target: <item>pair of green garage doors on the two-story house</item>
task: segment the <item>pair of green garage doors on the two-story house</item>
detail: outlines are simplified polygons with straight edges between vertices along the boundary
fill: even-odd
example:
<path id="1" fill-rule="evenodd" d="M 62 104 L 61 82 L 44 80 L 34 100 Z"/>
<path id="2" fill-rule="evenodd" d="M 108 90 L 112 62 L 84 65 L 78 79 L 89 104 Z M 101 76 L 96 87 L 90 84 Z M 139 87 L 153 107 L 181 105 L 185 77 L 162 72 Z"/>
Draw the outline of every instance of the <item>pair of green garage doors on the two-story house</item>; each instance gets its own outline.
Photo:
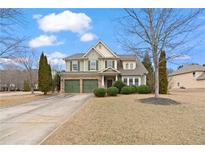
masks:
<path id="1" fill-rule="evenodd" d="M 91 93 L 93 89 L 98 87 L 97 79 L 82 79 L 82 85 L 80 85 L 80 79 L 65 80 L 64 92 L 65 93 L 80 93 L 81 88 L 83 93 Z"/>

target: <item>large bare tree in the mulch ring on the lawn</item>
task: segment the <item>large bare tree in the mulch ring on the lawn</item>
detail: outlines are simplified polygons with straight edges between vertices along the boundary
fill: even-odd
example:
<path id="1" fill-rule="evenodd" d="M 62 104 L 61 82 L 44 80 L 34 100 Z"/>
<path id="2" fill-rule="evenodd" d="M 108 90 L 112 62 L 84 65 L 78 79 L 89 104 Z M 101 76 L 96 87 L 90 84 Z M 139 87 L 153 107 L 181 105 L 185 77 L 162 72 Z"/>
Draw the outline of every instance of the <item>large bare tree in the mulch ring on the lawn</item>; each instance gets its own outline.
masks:
<path id="1" fill-rule="evenodd" d="M 119 41 L 138 56 L 148 51 L 154 64 L 155 97 L 159 97 L 159 55 L 166 51 L 167 60 L 182 56 L 190 33 L 199 25 L 194 22 L 201 9 L 125 9 L 120 21 L 124 28 Z M 177 52 L 183 49 L 183 52 Z M 182 50 L 181 50 L 182 51 Z"/>

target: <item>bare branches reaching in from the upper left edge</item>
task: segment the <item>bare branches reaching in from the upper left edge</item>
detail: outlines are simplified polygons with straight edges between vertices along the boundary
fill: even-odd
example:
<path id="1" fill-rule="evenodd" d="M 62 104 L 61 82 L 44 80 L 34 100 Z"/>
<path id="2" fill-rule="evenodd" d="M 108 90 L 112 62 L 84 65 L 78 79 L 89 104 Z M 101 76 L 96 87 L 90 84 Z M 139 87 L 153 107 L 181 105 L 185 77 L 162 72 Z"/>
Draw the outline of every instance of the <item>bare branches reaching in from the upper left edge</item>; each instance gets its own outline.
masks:
<path id="1" fill-rule="evenodd" d="M 24 22 L 20 9 L 0 9 L 0 57 L 8 58 L 20 52 L 25 37 L 15 36 L 17 25 Z"/>

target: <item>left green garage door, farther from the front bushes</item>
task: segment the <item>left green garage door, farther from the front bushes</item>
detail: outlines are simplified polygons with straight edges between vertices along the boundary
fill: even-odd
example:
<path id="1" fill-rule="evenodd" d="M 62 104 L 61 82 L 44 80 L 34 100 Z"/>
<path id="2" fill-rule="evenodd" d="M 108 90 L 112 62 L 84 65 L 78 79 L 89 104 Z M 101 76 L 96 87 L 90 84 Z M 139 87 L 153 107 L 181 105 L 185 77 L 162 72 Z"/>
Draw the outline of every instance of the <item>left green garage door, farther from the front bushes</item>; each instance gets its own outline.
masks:
<path id="1" fill-rule="evenodd" d="M 79 93 L 80 92 L 80 80 L 65 80 L 65 92 L 66 93 Z"/>

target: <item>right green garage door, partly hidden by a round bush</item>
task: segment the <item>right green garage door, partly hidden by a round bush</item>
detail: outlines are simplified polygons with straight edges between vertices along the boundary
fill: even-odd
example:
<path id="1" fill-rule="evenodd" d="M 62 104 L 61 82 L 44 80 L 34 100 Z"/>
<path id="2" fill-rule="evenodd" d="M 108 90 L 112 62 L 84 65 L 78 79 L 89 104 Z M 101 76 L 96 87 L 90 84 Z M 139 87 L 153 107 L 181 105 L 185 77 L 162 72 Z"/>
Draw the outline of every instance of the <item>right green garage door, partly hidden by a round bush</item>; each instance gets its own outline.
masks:
<path id="1" fill-rule="evenodd" d="M 98 87 L 98 80 L 83 80 L 83 92 L 91 93 L 93 89 Z"/>

